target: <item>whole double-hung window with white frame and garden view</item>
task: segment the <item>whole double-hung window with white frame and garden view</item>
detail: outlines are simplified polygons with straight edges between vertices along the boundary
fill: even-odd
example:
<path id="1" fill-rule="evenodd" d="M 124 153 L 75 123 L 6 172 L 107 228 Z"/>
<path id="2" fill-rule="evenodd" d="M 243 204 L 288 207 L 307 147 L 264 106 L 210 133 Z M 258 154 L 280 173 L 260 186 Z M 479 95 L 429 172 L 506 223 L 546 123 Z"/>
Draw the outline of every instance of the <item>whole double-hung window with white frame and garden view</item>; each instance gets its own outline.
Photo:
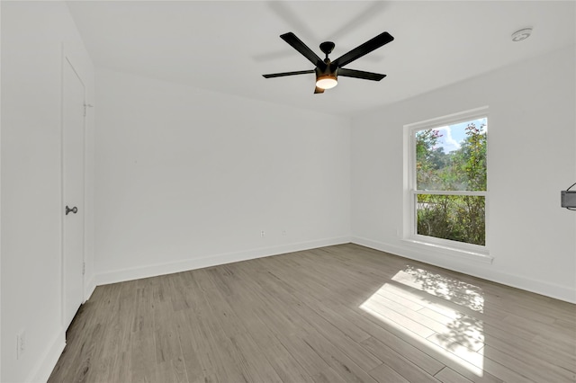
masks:
<path id="1" fill-rule="evenodd" d="M 410 238 L 486 252 L 488 109 L 407 126 Z"/>

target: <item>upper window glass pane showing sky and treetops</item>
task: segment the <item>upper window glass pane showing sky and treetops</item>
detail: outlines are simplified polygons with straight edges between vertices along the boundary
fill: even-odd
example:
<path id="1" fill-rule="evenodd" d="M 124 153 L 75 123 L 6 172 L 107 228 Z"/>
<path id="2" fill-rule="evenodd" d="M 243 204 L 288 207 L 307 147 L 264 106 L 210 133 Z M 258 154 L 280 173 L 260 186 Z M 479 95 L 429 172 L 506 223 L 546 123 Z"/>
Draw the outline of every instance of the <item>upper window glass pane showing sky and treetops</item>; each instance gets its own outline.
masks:
<path id="1" fill-rule="evenodd" d="M 486 191 L 486 132 L 482 118 L 416 132 L 420 191 Z"/>

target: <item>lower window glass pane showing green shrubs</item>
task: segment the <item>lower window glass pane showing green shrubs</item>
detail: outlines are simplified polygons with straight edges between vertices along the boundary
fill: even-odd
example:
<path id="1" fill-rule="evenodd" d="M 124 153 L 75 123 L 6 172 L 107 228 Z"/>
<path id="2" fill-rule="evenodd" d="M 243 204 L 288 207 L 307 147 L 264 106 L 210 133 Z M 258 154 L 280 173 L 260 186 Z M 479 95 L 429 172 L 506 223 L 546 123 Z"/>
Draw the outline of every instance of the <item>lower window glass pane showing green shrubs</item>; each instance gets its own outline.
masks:
<path id="1" fill-rule="evenodd" d="M 418 194 L 417 233 L 473 245 L 486 245 L 485 198 Z"/>

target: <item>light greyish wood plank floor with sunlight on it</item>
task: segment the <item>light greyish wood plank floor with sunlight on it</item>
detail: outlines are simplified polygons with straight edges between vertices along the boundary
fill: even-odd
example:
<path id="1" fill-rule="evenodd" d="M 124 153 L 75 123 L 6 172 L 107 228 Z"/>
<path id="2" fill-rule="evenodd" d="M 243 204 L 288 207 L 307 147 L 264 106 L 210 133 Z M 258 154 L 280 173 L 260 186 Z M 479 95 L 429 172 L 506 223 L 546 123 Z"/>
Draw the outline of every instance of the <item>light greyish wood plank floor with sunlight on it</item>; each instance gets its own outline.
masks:
<path id="1" fill-rule="evenodd" d="M 573 382 L 576 306 L 359 245 L 95 289 L 49 382 Z"/>

